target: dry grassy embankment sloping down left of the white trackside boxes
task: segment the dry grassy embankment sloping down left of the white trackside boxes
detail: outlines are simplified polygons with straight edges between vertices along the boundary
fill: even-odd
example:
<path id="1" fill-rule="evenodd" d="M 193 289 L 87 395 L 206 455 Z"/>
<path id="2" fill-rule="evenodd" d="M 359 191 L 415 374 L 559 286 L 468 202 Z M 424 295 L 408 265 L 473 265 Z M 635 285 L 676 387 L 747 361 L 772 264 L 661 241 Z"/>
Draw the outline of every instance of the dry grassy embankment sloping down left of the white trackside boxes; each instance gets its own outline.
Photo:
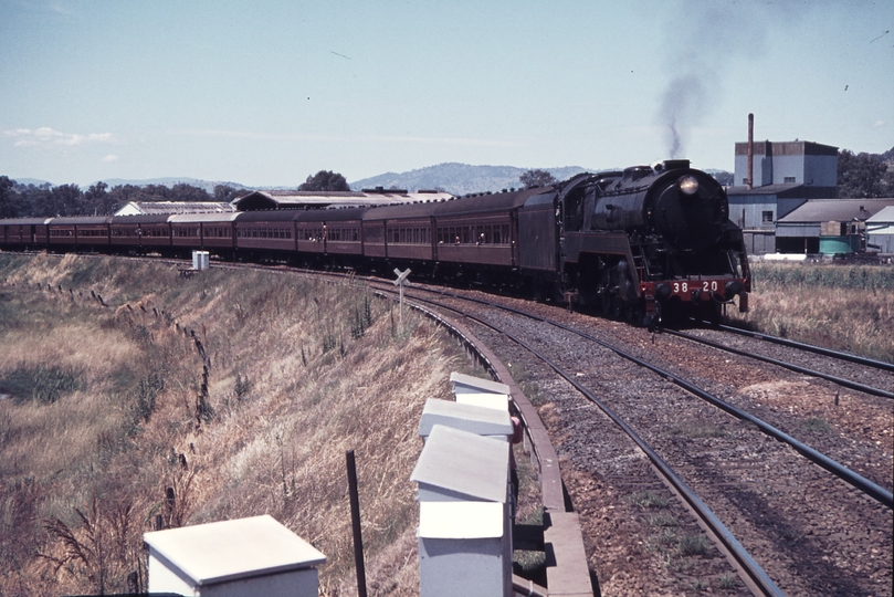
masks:
<path id="1" fill-rule="evenodd" d="M 483 374 L 391 308 L 295 275 L 0 254 L 0 594 L 125 591 L 157 516 L 263 513 L 354 594 L 349 449 L 370 589 L 416 594 L 422 405 Z"/>

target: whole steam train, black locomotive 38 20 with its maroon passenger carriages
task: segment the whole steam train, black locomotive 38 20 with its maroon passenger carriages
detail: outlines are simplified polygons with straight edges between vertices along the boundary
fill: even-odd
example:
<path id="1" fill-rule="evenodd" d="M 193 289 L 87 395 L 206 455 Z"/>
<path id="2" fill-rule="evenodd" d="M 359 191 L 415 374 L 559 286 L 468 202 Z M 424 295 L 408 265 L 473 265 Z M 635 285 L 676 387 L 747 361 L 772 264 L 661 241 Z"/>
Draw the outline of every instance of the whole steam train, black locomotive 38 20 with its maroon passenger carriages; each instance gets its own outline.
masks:
<path id="1" fill-rule="evenodd" d="M 0 249 L 281 260 L 524 290 L 655 325 L 716 320 L 750 274 L 723 187 L 687 160 L 385 207 L 0 220 Z"/>

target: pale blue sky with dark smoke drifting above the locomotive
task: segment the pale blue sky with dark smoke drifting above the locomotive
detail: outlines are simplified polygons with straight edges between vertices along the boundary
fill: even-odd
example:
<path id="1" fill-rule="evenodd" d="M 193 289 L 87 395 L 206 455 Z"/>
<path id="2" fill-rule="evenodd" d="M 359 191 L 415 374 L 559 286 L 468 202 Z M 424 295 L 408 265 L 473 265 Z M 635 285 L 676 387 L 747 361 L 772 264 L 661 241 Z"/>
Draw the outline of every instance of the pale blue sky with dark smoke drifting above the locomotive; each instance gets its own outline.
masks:
<path id="1" fill-rule="evenodd" d="M 891 0 L 0 0 L 0 175 L 297 186 L 894 147 Z"/>

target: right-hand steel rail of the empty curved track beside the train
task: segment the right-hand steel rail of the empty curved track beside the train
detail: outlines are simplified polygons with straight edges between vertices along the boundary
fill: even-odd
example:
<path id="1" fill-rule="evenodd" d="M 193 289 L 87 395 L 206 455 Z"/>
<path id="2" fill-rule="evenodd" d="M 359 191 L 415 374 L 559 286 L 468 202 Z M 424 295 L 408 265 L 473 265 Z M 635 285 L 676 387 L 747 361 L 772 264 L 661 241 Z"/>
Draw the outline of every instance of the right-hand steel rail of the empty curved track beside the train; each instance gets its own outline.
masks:
<path id="1" fill-rule="evenodd" d="M 526 312 L 524 312 L 522 310 L 518 310 L 518 308 L 515 308 L 515 307 L 511 307 L 511 306 L 506 306 L 506 305 L 497 305 L 497 304 L 491 303 L 488 301 L 483 301 L 481 298 L 462 297 L 462 296 L 459 296 L 459 295 L 455 295 L 455 294 L 452 294 L 452 293 L 448 293 L 448 292 L 438 292 L 438 291 L 430 291 L 430 292 L 435 292 L 437 294 L 442 294 L 442 295 L 451 296 L 451 297 L 454 297 L 454 298 L 461 298 L 461 300 L 464 300 L 464 301 L 472 301 L 472 302 L 481 303 L 481 304 L 488 305 L 488 306 L 495 306 L 495 307 L 498 307 L 498 308 L 502 308 L 502 310 L 505 310 L 505 311 L 508 311 L 508 312 L 512 312 L 512 313 L 516 313 L 517 315 L 528 317 L 528 318 L 534 320 L 534 321 L 539 321 L 539 322 L 553 325 L 553 326 L 558 327 L 560 329 L 565 329 L 566 332 L 569 332 L 571 334 L 576 334 L 576 335 L 578 335 L 578 336 L 580 336 L 582 338 L 589 339 L 590 342 L 595 342 L 596 344 L 599 344 L 600 346 L 602 346 L 604 348 L 608 348 L 609 350 L 613 352 L 618 356 L 623 357 L 623 358 L 625 358 L 625 359 L 628 359 L 628 360 L 630 360 L 632 363 L 635 363 L 637 365 L 639 365 L 641 367 L 644 367 L 644 368 L 658 374 L 661 377 L 664 377 L 669 381 L 672 381 L 672 383 L 676 384 L 677 386 L 685 389 L 686 391 L 697 396 L 698 398 L 702 398 L 703 400 L 706 400 L 706 401 L 711 402 L 712 405 L 714 405 L 717 408 L 728 412 L 729 415 L 736 417 L 737 419 L 754 423 L 764 433 L 767 433 L 768 436 L 770 436 L 771 438 L 774 438 L 776 440 L 788 443 L 796 451 L 798 451 L 801 455 L 803 455 L 804 458 L 807 458 L 808 460 L 810 460 L 814 464 L 825 469 L 827 471 L 829 471 L 833 475 L 838 476 L 839 479 L 841 479 L 845 483 L 849 483 L 853 488 L 855 488 L 855 489 L 860 490 L 861 492 L 865 493 L 866 495 L 869 495 L 870 498 L 872 498 L 876 502 L 881 503 L 882 505 L 886 506 L 887 509 L 894 510 L 894 495 L 892 495 L 892 493 L 890 491 L 885 490 L 884 488 L 873 483 L 872 481 L 864 478 L 863 475 L 848 469 L 843 464 L 832 460 L 831 458 L 827 457 L 822 452 L 820 452 L 818 450 L 814 450 L 813 448 L 807 446 L 806 443 L 801 442 L 800 440 L 795 439 L 793 437 L 789 436 L 785 431 L 781 431 L 781 430 L 775 428 L 774 426 L 769 425 L 768 422 L 766 422 L 766 421 L 764 421 L 761 419 L 758 419 L 754 415 L 751 415 L 749 412 L 746 412 L 746 411 L 730 405 L 729 402 L 726 402 L 726 401 L 722 400 L 721 398 L 717 398 L 713 394 L 711 394 L 711 392 L 708 392 L 708 391 L 706 391 L 706 390 L 704 390 L 704 389 L 702 389 L 702 388 L 700 388 L 697 386 L 694 386 L 693 384 L 690 384 L 688 381 L 686 381 L 682 377 L 680 377 L 680 376 L 677 376 L 677 375 L 675 375 L 675 374 L 673 374 L 671 371 L 666 371 L 664 369 L 661 369 L 660 367 L 656 367 L 655 365 L 652 365 L 651 363 L 646 363 L 645 360 L 643 360 L 643 359 L 641 359 L 641 358 L 639 358 L 637 356 L 633 356 L 633 355 L 622 350 L 621 348 L 618 348 L 617 346 L 613 346 L 613 345 L 611 345 L 611 344 L 609 344 L 609 343 L 607 343 L 607 342 L 604 342 L 602 339 L 599 339 L 599 338 L 597 338 L 595 336 L 591 336 L 590 334 L 587 334 L 586 332 L 580 332 L 579 329 L 575 329 L 575 328 L 572 328 L 572 327 L 570 327 L 568 325 L 565 325 L 565 324 L 561 324 L 559 322 L 554 322 L 554 321 L 547 320 L 546 317 L 540 317 L 539 315 L 534 315 L 532 313 L 526 313 Z M 425 301 L 424 298 L 421 298 L 421 297 L 417 297 L 417 300 Z"/>

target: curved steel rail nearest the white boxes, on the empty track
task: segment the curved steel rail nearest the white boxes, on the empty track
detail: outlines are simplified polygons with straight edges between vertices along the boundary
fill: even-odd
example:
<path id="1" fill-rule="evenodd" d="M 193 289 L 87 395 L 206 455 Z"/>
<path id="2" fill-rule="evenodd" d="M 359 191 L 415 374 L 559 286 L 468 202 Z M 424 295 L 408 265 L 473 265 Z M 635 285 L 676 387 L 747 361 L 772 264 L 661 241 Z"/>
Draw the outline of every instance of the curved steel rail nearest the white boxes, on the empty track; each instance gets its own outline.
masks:
<path id="1" fill-rule="evenodd" d="M 714 512 L 695 494 L 695 492 L 686 484 L 683 479 L 680 478 L 679 474 L 667 464 L 664 459 L 662 459 L 652 448 L 645 442 L 645 440 L 640 437 L 637 431 L 630 427 L 623 419 L 621 419 L 618 413 L 616 413 L 608 405 L 602 402 L 597 396 L 591 392 L 589 389 L 580 385 L 571 375 L 569 375 L 565 369 L 559 367 L 555 364 L 549 357 L 537 350 L 536 348 L 532 347 L 524 341 L 519 339 L 518 337 L 514 336 L 513 334 L 501 329 L 499 327 L 480 318 L 469 313 L 464 313 L 460 310 L 449 307 L 446 305 L 433 303 L 432 301 L 428 301 L 421 297 L 414 297 L 414 300 L 437 304 L 442 308 L 446 308 L 453 311 L 454 313 L 459 313 L 464 317 L 467 317 L 478 324 L 488 327 L 498 334 L 502 334 L 509 338 L 512 342 L 518 344 L 537 358 L 543 360 L 546 365 L 548 365 L 557 375 L 559 375 L 562 379 L 571 384 L 580 394 L 582 394 L 588 400 L 593 402 L 597 407 L 599 407 L 602 412 L 606 413 L 614 423 L 620 427 L 624 433 L 627 433 L 630 439 L 646 454 L 650 461 L 655 465 L 655 468 L 660 471 L 662 476 L 683 496 L 690 507 L 692 507 L 697 515 L 702 519 L 702 522 L 711 530 L 714 534 L 716 540 L 724 545 L 726 551 L 730 554 L 730 556 L 735 559 L 739 569 L 745 573 L 748 577 L 750 586 L 756 587 L 761 595 L 772 595 L 772 596 L 782 596 L 785 593 L 776 586 L 772 579 L 767 575 L 764 568 L 751 557 L 751 555 L 743 547 L 743 545 L 738 542 L 738 540 L 726 528 L 726 525 L 717 517 Z M 478 301 L 473 298 L 473 301 Z M 486 302 L 484 302 L 486 303 Z M 498 305 L 494 305 L 498 306 Z M 509 308 L 509 311 L 514 311 Z M 519 315 L 528 316 L 525 313 L 518 313 Z M 534 316 L 533 318 L 538 320 L 538 317 Z M 546 320 L 541 320 L 544 323 L 551 324 Z"/>

